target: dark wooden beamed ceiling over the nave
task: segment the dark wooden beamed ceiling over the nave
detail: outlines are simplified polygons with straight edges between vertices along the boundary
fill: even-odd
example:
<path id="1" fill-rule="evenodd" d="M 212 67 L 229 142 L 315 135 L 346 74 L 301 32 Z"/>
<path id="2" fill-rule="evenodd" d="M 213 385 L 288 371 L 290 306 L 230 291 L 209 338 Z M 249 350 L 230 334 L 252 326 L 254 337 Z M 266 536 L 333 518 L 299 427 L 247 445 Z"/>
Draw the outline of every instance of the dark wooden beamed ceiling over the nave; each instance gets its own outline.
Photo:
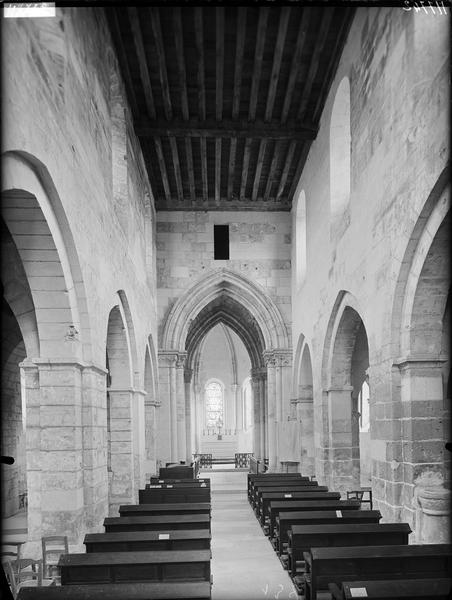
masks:
<path id="1" fill-rule="evenodd" d="M 157 210 L 290 210 L 353 12 L 106 9 Z"/>

